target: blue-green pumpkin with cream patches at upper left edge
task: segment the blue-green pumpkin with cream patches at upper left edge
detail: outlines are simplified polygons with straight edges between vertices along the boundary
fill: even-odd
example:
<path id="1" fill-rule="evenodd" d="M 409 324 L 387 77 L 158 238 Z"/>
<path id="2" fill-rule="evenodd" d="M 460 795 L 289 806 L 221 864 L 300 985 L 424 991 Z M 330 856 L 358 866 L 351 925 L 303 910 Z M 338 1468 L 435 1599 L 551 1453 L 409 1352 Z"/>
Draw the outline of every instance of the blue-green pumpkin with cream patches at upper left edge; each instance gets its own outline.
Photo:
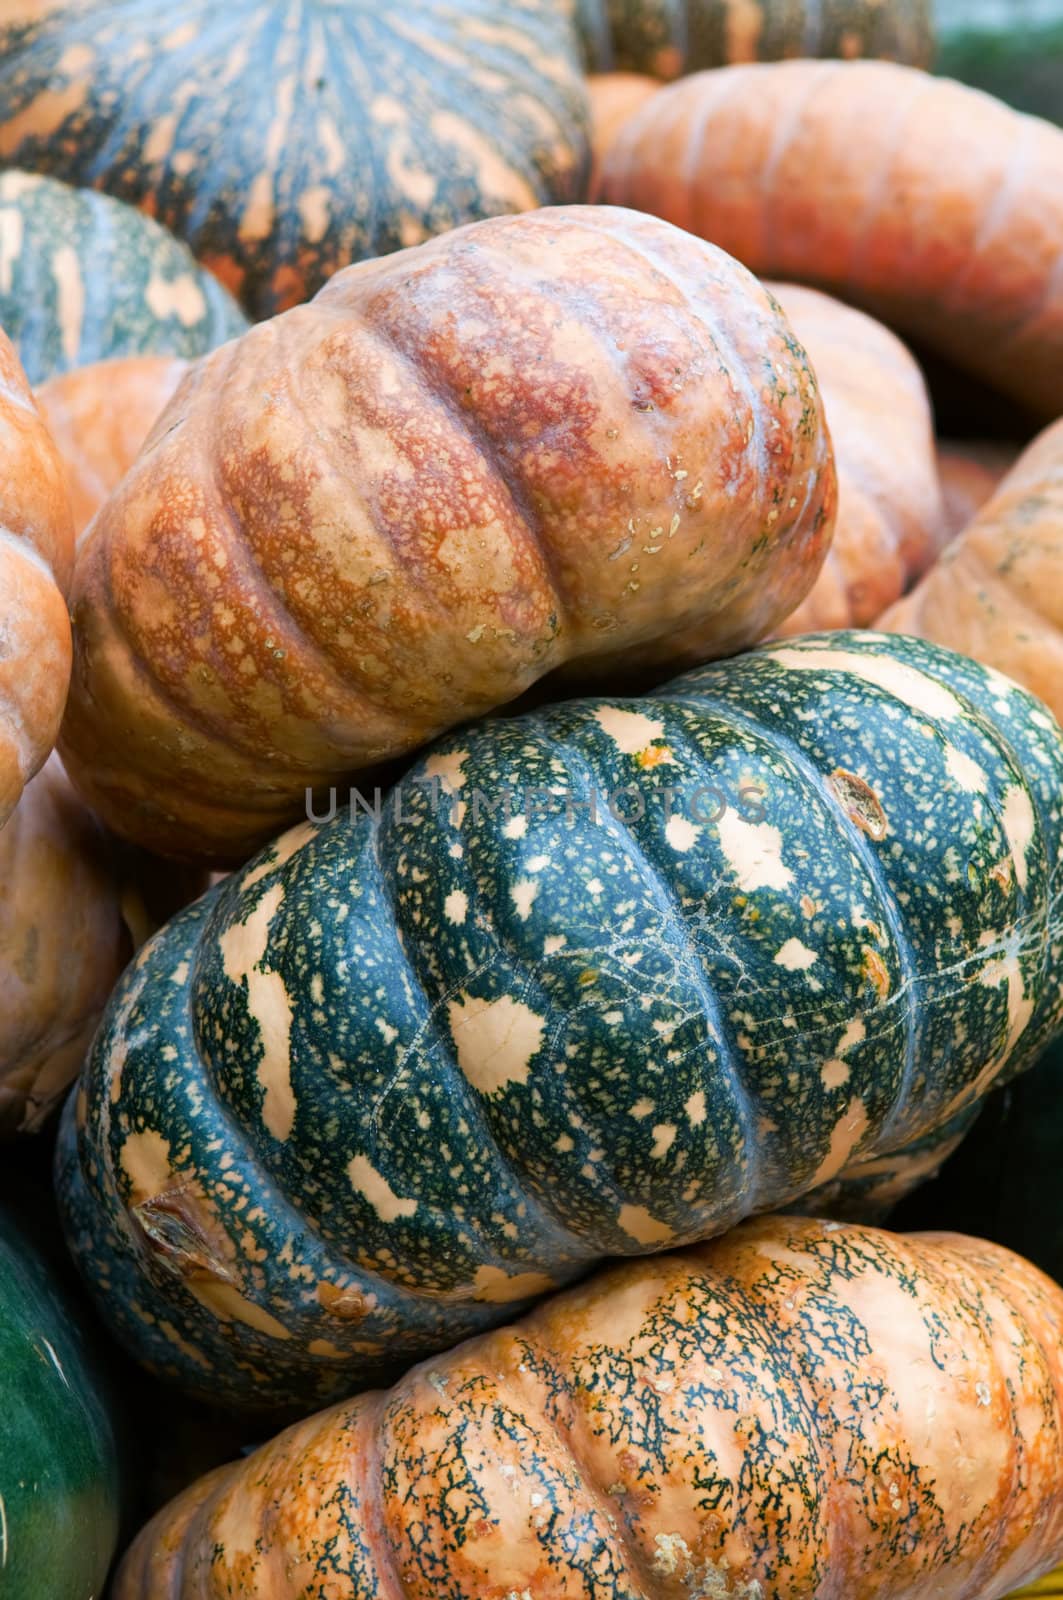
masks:
<path id="1" fill-rule="evenodd" d="M 34 384 L 114 355 L 202 355 L 247 328 L 176 238 L 91 189 L 0 173 L 0 325 Z"/>

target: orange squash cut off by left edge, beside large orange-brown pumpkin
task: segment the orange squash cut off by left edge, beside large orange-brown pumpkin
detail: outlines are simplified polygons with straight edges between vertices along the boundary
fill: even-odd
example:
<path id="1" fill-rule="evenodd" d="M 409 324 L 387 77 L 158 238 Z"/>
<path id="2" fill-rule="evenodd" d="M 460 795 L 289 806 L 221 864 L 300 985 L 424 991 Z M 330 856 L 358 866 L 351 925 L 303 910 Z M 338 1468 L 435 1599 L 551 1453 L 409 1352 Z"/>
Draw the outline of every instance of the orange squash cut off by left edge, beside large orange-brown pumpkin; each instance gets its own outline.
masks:
<path id="1" fill-rule="evenodd" d="M 2 237 L 2 235 L 0 235 Z M 70 678 L 62 464 L 0 330 L 0 827 L 51 750 Z"/>

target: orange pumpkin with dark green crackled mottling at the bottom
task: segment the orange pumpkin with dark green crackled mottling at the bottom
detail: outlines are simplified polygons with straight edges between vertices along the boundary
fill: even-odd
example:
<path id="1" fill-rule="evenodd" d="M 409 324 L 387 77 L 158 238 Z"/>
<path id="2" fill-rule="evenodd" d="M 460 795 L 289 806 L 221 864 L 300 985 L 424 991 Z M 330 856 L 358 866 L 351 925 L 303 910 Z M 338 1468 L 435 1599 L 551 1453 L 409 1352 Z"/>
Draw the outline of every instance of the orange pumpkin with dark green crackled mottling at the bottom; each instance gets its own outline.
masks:
<path id="1" fill-rule="evenodd" d="M 1063 1290 L 762 1218 L 194 1485 L 115 1600 L 999 1600 L 1063 1554 Z"/>

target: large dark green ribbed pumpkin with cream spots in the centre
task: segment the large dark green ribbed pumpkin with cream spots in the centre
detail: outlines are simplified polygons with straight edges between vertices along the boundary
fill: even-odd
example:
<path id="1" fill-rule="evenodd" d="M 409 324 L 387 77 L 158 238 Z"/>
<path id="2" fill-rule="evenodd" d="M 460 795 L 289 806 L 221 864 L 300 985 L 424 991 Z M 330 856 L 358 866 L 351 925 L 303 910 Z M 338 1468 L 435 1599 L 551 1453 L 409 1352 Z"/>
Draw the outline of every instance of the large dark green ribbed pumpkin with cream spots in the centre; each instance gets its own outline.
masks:
<path id="1" fill-rule="evenodd" d="M 351 1392 L 1033 1059 L 1061 829 L 1044 709 L 879 634 L 455 733 L 126 971 L 64 1115 L 72 1250 L 216 1403 Z"/>

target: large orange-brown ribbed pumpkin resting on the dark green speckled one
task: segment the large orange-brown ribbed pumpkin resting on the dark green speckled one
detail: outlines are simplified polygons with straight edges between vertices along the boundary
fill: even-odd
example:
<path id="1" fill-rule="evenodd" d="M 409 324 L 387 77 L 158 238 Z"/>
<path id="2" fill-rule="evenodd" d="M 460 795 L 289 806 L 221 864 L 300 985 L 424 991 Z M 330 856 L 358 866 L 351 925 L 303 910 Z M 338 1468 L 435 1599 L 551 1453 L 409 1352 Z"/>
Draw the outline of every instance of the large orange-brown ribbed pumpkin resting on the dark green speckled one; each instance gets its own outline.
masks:
<path id="1" fill-rule="evenodd" d="M 118 834 L 239 862 L 565 662 L 660 680 L 762 637 L 832 515 L 744 269 L 618 210 L 479 222 L 189 374 L 78 554 L 64 760 Z"/>

